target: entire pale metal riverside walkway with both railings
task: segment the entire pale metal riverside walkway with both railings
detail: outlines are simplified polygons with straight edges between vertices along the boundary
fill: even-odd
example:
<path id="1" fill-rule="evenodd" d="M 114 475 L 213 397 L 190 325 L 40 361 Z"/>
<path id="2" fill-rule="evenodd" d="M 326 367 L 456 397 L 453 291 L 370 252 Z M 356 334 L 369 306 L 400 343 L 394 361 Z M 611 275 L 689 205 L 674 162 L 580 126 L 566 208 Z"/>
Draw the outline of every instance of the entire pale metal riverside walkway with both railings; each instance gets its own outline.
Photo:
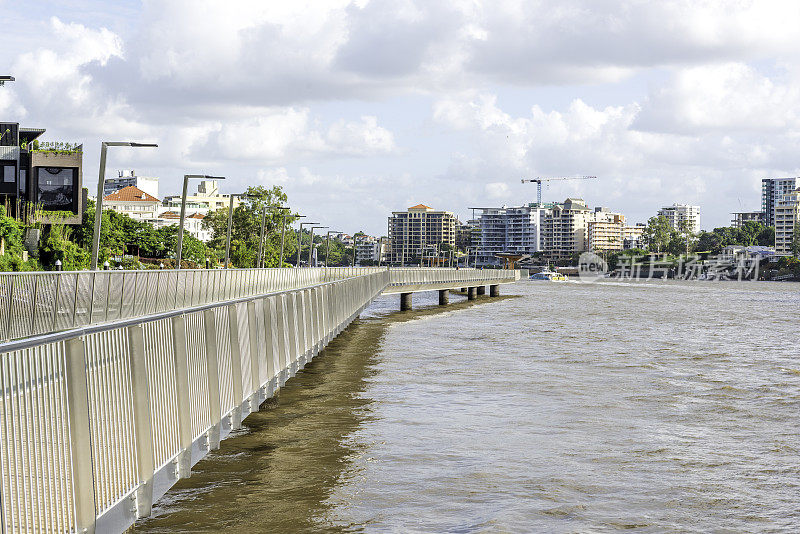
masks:
<path id="1" fill-rule="evenodd" d="M 0 275 L 2 532 L 122 532 L 381 294 L 520 271 Z"/>

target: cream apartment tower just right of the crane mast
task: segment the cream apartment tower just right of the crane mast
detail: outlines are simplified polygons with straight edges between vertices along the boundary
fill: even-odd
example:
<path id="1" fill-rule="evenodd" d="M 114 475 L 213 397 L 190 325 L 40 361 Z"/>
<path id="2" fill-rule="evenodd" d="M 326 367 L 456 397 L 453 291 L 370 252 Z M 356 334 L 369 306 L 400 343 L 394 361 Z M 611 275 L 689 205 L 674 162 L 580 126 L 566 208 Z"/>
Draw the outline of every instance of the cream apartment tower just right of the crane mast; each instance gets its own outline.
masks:
<path id="1" fill-rule="evenodd" d="M 580 198 L 568 198 L 544 211 L 540 247 L 550 260 L 571 258 L 588 250 L 588 224 L 594 212 Z"/>

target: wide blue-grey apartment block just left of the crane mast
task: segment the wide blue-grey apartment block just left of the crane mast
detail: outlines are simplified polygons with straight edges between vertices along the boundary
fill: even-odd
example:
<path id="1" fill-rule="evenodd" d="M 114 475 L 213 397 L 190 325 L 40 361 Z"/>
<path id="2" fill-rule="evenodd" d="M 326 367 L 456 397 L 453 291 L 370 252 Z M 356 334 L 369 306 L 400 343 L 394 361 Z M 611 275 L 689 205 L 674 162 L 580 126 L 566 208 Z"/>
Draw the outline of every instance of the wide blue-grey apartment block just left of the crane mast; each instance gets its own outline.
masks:
<path id="1" fill-rule="evenodd" d="M 501 265 L 498 254 L 531 255 L 541 250 L 543 208 L 528 204 L 480 209 L 476 219 L 479 265 Z"/>

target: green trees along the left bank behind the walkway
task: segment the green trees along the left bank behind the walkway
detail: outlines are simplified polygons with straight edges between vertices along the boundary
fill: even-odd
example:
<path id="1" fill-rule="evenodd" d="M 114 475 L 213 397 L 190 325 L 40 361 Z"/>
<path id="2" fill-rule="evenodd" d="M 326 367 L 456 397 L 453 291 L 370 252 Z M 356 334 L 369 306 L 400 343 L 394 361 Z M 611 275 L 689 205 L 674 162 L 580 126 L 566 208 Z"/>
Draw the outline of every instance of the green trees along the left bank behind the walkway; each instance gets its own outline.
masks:
<path id="1" fill-rule="evenodd" d="M 265 226 L 263 243 L 264 266 L 277 267 L 280 263 L 281 227 L 284 232 L 284 266 L 292 265 L 297 258 L 298 239 L 292 229 L 298 220 L 297 214 L 281 210 L 286 205 L 286 193 L 279 186 L 249 187 L 241 197 L 241 204 L 234 208 L 231 231 L 230 258 L 233 267 L 255 267 L 258 263 L 259 239 L 262 217 Z M 266 211 L 265 211 L 266 210 Z M 178 237 L 178 224 L 156 228 L 114 210 L 103 210 L 99 244 L 99 264 L 109 262 L 112 268 L 158 269 L 174 268 Z M 0 206 L 0 270 L 29 271 L 53 270 L 56 262 L 61 269 L 78 271 L 88 269 L 94 233 L 95 203 L 90 201 L 84 209 L 79 226 L 68 226 L 58 222 L 52 224 L 32 223 L 26 225 L 6 215 Z M 183 268 L 215 267 L 225 258 L 228 230 L 228 208 L 208 213 L 202 227 L 211 234 L 204 243 L 187 230 L 183 235 Z M 39 232 L 38 246 L 25 243 L 27 230 Z M 30 234 L 28 232 L 28 234 Z M 30 239 L 29 239 L 30 241 Z M 328 265 L 349 265 L 352 248 L 345 248 L 336 240 L 330 241 L 330 258 L 324 236 L 314 236 L 317 260 Z M 308 257 L 310 232 L 304 231 L 300 238 L 301 258 Z M 26 258 L 27 256 L 27 258 Z"/>

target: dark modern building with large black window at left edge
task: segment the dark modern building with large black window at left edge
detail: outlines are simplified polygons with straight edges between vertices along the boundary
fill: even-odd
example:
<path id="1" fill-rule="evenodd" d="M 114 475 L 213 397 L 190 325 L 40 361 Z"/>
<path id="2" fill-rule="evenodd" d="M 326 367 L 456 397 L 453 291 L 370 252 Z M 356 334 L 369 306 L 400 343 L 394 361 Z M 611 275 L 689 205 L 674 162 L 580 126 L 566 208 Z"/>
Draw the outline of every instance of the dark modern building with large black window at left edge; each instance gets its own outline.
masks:
<path id="1" fill-rule="evenodd" d="M 0 202 L 17 218 L 57 211 L 63 214 L 59 222 L 80 224 L 85 203 L 82 146 L 41 143 L 44 132 L 0 123 Z"/>

